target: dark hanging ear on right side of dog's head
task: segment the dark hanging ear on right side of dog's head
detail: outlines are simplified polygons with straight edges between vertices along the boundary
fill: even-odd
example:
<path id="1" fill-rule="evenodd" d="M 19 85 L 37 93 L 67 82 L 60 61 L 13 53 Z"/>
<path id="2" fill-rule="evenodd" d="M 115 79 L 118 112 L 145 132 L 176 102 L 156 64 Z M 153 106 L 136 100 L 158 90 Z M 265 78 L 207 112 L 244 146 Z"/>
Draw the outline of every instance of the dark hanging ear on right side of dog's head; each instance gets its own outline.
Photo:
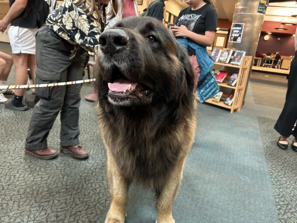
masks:
<path id="1" fill-rule="evenodd" d="M 180 44 L 177 43 L 177 53 L 176 53 L 179 61 L 183 64 L 185 72 L 186 72 L 186 81 L 187 81 L 187 92 L 186 97 L 188 96 L 192 99 L 193 91 L 194 91 L 194 69 L 192 63 L 189 59 L 189 54 L 185 50 L 185 48 Z"/>

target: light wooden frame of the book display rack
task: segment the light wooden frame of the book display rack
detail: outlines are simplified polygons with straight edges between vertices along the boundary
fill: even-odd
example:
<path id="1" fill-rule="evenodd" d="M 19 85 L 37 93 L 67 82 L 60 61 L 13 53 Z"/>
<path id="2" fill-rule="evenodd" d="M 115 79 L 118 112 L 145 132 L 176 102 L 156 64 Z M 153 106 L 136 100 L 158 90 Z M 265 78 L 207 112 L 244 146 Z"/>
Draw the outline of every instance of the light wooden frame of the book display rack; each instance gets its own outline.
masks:
<path id="1" fill-rule="evenodd" d="M 234 91 L 235 91 L 234 99 L 233 99 L 233 103 L 231 106 L 228 106 L 224 103 L 224 100 L 227 97 L 227 95 L 225 95 L 225 94 L 223 94 L 223 96 L 219 102 L 214 102 L 214 101 L 212 101 L 212 98 L 210 98 L 210 99 L 206 100 L 205 103 L 223 107 L 225 109 L 230 109 L 231 113 L 233 113 L 234 110 L 240 111 L 240 109 L 242 107 L 242 103 L 243 103 L 246 85 L 247 85 L 247 76 L 248 76 L 248 73 L 250 70 L 251 58 L 252 58 L 251 56 L 244 56 L 240 66 L 229 64 L 229 63 L 214 62 L 214 65 L 221 65 L 221 66 L 225 66 L 225 67 L 234 67 L 234 68 L 239 69 L 238 80 L 237 80 L 237 83 L 235 86 L 230 86 L 230 85 L 226 84 L 226 80 L 229 79 L 230 75 L 229 76 L 227 75 L 227 77 L 225 78 L 223 83 L 218 83 L 218 85 L 221 87 L 234 89 Z"/>

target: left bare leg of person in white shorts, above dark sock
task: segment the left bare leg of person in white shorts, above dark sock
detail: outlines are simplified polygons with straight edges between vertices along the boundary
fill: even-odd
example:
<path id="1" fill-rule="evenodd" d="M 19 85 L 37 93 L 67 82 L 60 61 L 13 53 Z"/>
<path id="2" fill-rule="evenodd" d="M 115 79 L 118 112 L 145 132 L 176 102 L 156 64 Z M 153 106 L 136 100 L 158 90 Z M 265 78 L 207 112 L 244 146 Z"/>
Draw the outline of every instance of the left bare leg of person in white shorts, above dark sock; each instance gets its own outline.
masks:
<path id="1" fill-rule="evenodd" d="M 13 63 L 15 66 L 15 85 L 25 85 L 28 80 L 28 54 L 14 54 Z M 16 96 L 23 96 L 26 89 L 15 89 Z"/>

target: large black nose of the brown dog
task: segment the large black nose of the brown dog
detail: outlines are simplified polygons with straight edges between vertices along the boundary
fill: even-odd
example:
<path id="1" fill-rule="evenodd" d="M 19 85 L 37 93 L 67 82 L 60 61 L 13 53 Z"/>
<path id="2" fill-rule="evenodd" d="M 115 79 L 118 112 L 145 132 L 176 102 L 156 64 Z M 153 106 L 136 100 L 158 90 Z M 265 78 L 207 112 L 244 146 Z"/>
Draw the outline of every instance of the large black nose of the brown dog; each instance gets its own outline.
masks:
<path id="1" fill-rule="evenodd" d="M 124 50 L 129 42 L 129 37 L 122 29 L 106 30 L 99 37 L 100 49 L 113 56 Z"/>

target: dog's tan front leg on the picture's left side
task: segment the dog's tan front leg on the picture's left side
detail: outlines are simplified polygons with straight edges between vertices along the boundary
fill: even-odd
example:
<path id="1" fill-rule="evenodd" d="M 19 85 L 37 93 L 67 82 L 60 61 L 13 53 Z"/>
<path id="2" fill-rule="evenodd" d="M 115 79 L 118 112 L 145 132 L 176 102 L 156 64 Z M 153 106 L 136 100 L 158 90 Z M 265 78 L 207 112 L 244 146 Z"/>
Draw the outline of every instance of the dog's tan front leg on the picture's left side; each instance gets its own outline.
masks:
<path id="1" fill-rule="evenodd" d="M 112 155 L 108 152 L 107 176 L 111 204 L 104 223 L 124 223 L 130 182 L 121 174 Z"/>

